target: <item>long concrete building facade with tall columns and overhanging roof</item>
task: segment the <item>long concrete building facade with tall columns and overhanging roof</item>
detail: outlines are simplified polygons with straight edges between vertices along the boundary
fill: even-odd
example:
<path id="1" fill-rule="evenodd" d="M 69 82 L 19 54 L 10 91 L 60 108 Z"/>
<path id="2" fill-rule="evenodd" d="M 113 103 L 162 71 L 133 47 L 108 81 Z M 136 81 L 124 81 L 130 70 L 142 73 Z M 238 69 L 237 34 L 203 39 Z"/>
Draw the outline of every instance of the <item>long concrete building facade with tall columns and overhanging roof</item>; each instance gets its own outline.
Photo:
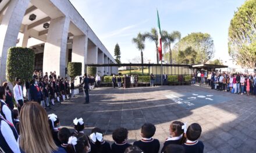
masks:
<path id="1" fill-rule="evenodd" d="M 35 69 L 65 76 L 69 61 L 114 64 L 116 61 L 69 0 L 2 0 L 0 2 L 0 82 L 5 81 L 8 49 L 35 51 Z M 98 67 L 99 75 L 118 68 Z"/>

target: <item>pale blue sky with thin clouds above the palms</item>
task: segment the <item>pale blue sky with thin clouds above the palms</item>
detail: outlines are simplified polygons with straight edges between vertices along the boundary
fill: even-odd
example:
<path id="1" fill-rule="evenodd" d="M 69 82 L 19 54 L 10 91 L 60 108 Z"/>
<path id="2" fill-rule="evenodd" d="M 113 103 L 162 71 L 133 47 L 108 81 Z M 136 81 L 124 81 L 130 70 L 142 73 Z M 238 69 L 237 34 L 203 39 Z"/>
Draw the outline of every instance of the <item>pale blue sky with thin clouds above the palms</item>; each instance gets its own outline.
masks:
<path id="1" fill-rule="evenodd" d="M 227 48 L 230 20 L 244 1 L 70 0 L 112 56 L 116 43 L 119 44 L 122 63 L 140 57 L 131 39 L 137 37 L 138 32 L 157 28 L 158 9 L 161 30 L 177 30 L 182 37 L 191 32 L 210 34 L 215 45 L 214 59 L 221 59 L 224 64 L 232 63 Z M 151 63 L 157 62 L 154 42 L 146 41 L 143 53 Z"/>

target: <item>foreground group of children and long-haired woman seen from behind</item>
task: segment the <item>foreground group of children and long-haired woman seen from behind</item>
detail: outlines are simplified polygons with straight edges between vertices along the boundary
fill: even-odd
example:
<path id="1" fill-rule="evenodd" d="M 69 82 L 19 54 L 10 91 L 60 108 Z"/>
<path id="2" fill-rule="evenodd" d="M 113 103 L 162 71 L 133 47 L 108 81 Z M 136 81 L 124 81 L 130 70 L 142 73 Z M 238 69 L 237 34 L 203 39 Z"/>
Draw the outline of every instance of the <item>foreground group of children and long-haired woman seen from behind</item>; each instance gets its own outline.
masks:
<path id="1" fill-rule="evenodd" d="M 1 101 L 5 99 L 3 88 L 0 88 Z M 2 111 L 1 102 L 1 111 Z M 5 105 L 5 104 L 3 104 Z M 154 139 L 156 128 L 152 123 L 141 126 L 141 140 L 127 143 L 128 130 L 118 128 L 113 131 L 115 141 L 110 145 L 104 140 L 104 133 L 99 128 L 84 133 L 82 118 L 73 120 L 74 132 L 67 128 L 60 128 L 61 119 L 55 114 L 47 115 L 45 109 L 37 102 L 31 101 L 23 105 L 20 111 L 19 128 L 15 128 L 11 121 L 0 115 L 0 149 L 3 152 L 54 152 L 54 153 L 122 153 L 144 152 L 158 153 L 159 140 Z M 169 127 L 170 137 L 166 139 L 161 152 L 203 152 L 204 144 L 199 141 L 202 129 L 198 123 L 186 128 L 180 121 L 174 121 Z"/>

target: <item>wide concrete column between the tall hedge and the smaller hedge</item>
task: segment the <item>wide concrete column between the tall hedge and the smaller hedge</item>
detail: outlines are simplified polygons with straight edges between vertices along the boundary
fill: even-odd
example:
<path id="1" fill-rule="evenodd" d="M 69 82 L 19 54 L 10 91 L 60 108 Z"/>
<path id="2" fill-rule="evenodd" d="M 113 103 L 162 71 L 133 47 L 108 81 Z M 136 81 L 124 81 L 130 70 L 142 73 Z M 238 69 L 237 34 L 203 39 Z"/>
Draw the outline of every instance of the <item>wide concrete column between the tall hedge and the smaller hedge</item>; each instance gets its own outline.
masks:
<path id="1" fill-rule="evenodd" d="M 44 61 L 42 71 L 56 71 L 57 75 L 65 77 L 67 34 L 70 20 L 58 17 L 51 20 L 47 42 L 44 46 Z"/>

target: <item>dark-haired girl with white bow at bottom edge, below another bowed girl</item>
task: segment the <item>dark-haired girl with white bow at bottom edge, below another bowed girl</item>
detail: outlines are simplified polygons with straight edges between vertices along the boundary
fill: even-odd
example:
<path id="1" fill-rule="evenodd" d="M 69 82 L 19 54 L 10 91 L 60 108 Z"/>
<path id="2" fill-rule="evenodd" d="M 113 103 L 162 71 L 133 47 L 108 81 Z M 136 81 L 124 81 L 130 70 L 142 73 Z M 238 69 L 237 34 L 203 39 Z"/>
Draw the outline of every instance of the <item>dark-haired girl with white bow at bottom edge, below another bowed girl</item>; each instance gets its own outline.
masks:
<path id="1" fill-rule="evenodd" d="M 68 153 L 87 153 L 91 152 L 91 146 L 89 139 L 83 133 L 74 134 L 69 137 L 68 143 L 70 144 L 67 148 L 70 150 Z"/>

